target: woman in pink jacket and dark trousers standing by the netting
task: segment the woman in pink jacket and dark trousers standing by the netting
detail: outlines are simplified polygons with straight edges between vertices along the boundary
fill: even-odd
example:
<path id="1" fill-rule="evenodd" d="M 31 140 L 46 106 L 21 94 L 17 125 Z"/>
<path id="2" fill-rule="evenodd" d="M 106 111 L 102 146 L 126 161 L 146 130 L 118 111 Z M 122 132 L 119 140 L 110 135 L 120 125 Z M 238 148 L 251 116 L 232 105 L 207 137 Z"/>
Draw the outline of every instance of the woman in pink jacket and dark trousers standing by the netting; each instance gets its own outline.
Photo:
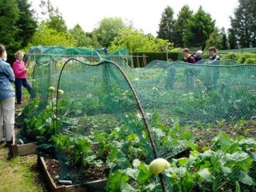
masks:
<path id="1" fill-rule="evenodd" d="M 27 68 L 25 67 L 25 63 L 23 61 L 23 52 L 18 51 L 17 53 L 15 53 L 15 58 L 16 61 L 13 63 L 13 72 L 15 75 L 15 88 L 16 88 L 16 99 L 17 99 L 17 104 L 21 104 L 21 97 L 22 97 L 22 85 L 27 88 L 28 92 L 32 93 L 33 88 L 31 87 L 31 85 L 29 85 L 28 81 L 27 81 Z"/>

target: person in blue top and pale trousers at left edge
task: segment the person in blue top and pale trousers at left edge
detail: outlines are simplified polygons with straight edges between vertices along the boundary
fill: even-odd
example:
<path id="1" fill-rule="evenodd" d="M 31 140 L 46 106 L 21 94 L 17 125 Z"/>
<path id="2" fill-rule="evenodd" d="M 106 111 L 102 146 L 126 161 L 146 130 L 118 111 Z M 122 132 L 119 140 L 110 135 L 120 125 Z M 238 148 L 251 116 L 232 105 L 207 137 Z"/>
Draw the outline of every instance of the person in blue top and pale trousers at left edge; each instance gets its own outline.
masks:
<path id="1" fill-rule="evenodd" d="M 11 65 L 6 60 L 6 48 L 0 45 L 0 142 L 5 136 L 7 145 L 11 145 L 15 106 L 15 94 L 11 82 L 14 82 L 15 77 Z"/>

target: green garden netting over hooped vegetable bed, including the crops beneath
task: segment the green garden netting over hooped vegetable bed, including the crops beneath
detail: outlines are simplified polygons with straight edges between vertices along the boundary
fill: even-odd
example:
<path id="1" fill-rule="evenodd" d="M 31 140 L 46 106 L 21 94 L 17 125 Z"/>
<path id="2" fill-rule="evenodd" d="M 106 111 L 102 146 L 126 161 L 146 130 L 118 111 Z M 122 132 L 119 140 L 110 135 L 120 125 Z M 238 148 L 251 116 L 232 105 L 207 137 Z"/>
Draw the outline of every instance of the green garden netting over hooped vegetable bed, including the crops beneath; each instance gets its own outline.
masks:
<path id="1" fill-rule="evenodd" d="M 56 180 L 108 179 L 107 191 L 255 191 L 254 65 L 137 69 L 129 55 L 53 50 L 27 55 L 36 98 L 22 134 L 60 162 Z M 160 177 L 147 168 L 156 157 L 171 163 Z"/>

